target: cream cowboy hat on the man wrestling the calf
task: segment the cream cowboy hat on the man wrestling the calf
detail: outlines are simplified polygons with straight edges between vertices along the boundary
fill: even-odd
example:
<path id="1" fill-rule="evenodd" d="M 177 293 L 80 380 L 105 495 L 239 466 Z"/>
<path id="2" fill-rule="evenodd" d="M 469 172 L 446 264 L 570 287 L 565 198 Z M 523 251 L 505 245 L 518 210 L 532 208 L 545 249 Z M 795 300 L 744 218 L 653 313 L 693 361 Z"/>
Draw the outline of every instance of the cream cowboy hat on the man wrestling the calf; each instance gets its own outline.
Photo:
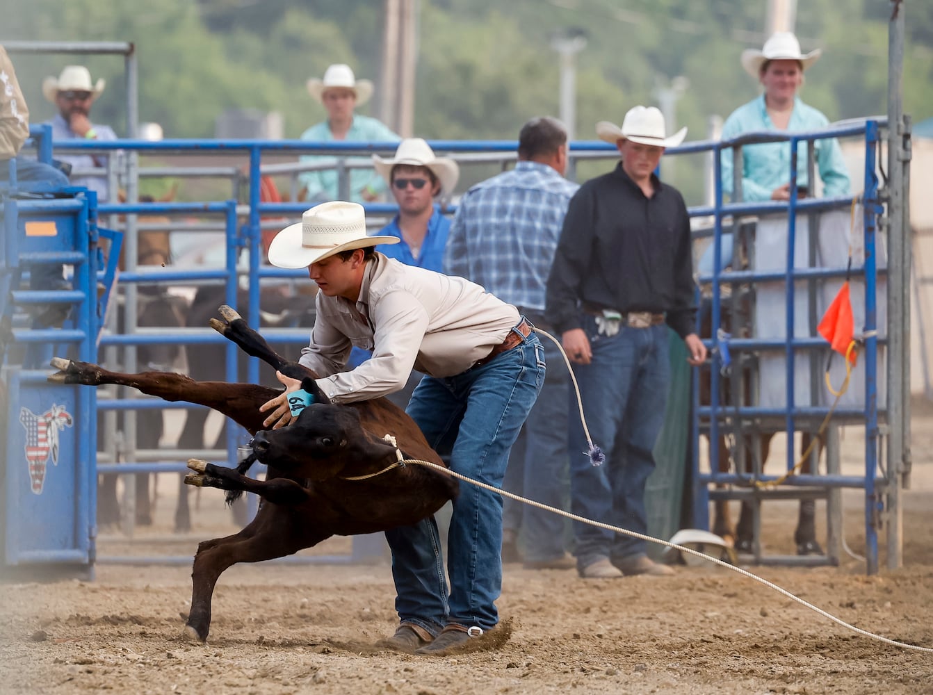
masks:
<path id="1" fill-rule="evenodd" d="M 322 202 L 305 210 L 298 224 L 275 235 L 269 262 L 278 268 L 307 268 L 341 251 L 399 241 L 398 237 L 367 236 L 366 214 L 358 202 Z"/>

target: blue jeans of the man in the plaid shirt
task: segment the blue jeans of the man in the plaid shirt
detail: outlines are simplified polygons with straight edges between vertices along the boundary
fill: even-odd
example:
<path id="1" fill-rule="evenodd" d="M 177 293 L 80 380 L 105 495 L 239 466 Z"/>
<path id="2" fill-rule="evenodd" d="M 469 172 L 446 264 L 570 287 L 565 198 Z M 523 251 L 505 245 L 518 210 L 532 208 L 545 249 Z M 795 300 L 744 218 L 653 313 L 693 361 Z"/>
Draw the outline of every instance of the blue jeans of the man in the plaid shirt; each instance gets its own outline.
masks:
<path id="1" fill-rule="evenodd" d="M 542 338 L 548 373 L 535 407 L 508 457 L 503 490 L 549 507 L 564 509 L 567 496 L 567 432 L 570 372 L 557 345 Z M 574 410 L 577 410 L 576 405 Z M 564 556 L 564 518 L 522 502 L 503 500 L 502 525 L 522 531 L 526 562 L 547 562 Z"/>

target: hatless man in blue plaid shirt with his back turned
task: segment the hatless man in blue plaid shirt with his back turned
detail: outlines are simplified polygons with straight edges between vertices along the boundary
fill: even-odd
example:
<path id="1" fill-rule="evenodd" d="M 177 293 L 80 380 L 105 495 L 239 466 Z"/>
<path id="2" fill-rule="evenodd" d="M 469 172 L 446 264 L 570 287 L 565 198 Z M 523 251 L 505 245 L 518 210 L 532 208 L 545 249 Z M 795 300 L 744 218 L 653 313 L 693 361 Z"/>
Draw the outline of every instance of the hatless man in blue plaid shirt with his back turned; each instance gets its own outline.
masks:
<path id="1" fill-rule="evenodd" d="M 444 271 L 483 285 L 518 307 L 536 327 L 544 321 L 550 265 L 567 204 L 579 188 L 564 178 L 567 133 L 555 118 L 533 118 L 519 134 L 515 169 L 470 188 L 453 218 Z M 566 496 L 569 372 L 553 342 L 544 344 L 548 371 L 535 407 L 512 447 L 503 488 L 550 507 Z M 570 569 L 564 521 L 549 511 L 505 500 L 503 562 L 519 560 L 523 529 L 524 566 Z"/>

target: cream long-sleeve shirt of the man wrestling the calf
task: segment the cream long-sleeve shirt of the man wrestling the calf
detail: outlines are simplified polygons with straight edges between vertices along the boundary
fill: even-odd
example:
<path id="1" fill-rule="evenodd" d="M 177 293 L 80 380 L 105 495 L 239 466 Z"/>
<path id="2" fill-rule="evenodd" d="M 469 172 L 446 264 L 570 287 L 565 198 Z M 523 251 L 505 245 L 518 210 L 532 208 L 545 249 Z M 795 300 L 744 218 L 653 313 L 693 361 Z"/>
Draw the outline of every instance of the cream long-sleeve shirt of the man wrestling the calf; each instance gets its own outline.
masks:
<path id="1" fill-rule="evenodd" d="M 377 253 L 356 302 L 318 293 L 311 344 L 299 362 L 324 375 L 317 385 L 335 402 L 368 400 L 400 390 L 412 368 L 434 377 L 466 371 L 518 321 L 515 307 L 480 285 Z M 341 371 L 354 345 L 372 357 Z"/>

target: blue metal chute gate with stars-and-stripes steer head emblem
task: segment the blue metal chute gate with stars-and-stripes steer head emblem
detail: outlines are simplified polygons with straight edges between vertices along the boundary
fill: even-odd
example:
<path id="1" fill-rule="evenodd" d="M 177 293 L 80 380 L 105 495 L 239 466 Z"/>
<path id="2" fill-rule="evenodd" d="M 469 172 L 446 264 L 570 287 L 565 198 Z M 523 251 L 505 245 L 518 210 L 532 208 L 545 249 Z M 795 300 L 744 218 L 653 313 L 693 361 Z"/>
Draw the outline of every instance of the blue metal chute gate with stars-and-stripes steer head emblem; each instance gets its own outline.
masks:
<path id="1" fill-rule="evenodd" d="M 52 354 L 96 360 L 101 266 L 94 194 L 0 195 L 2 381 L 6 391 L 3 558 L 8 572 L 91 576 L 96 535 L 96 394 L 47 381 Z M 71 290 L 26 289 L 31 273 L 74 267 Z M 70 306 L 63 327 L 35 327 L 31 308 Z M 35 312 L 33 312 L 35 314 Z M 14 569 L 15 568 L 15 569 Z"/>

